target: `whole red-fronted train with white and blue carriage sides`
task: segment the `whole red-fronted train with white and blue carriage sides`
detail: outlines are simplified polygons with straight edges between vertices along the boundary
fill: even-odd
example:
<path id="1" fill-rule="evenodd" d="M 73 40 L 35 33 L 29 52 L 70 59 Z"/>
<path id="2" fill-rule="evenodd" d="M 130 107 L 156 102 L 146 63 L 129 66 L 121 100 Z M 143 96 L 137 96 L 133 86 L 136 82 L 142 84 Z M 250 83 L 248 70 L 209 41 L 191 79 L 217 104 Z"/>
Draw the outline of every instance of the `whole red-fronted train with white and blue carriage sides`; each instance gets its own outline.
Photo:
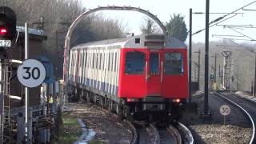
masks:
<path id="1" fill-rule="evenodd" d="M 68 74 L 80 98 L 125 117 L 168 120 L 188 98 L 187 71 L 183 42 L 142 34 L 74 46 Z"/>

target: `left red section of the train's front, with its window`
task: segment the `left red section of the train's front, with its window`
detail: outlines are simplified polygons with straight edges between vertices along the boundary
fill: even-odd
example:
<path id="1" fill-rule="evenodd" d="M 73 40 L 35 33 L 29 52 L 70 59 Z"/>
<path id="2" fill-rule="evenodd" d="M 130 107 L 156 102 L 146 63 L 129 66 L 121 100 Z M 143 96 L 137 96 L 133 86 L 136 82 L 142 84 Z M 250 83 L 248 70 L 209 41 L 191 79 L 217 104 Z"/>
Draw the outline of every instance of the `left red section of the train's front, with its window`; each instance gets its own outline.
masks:
<path id="1" fill-rule="evenodd" d="M 146 49 L 122 49 L 120 58 L 118 97 L 146 96 Z"/>

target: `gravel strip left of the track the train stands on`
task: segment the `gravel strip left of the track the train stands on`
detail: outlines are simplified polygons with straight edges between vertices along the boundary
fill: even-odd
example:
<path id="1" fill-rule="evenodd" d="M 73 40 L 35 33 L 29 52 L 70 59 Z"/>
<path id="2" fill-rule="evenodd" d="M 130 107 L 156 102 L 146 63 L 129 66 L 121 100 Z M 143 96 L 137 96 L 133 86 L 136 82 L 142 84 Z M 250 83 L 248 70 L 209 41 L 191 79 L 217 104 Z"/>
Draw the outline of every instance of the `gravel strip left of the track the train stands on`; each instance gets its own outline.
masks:
<path id="1" fill-rule="evenodd" d="M 88 128 L 96 133 L 94 140 L 102 143 L 128 144 L 132 132 L 125 122 L 118 120 L 113 114 L 106 113 L 98 106 L 91 104 L 67 104 L 73 110 L 70 115 L 82 118 Z"/>

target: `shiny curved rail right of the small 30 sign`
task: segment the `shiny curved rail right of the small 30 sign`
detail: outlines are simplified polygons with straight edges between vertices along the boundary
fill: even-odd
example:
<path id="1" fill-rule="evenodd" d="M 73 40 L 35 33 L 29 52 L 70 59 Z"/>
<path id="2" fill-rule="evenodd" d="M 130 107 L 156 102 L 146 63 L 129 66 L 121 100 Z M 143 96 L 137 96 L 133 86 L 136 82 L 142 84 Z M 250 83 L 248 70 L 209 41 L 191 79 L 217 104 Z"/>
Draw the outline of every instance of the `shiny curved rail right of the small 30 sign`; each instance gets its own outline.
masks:
<path id="1" fill-rule="evenodd" d="M 240 110 L 242 110 L 242 112 L 244 112 L 248 118 L 250 119 L 251 125 L 253 127 L 253 134 L 250 138 L 250 144 L 254 143 L 254 138 L 255 138 L 255 125 L 254 125 L 254 120 L 253 118 L 250 116 L 250 114 L 244 109 L 242 108 L 242 106 L 238 105 L 236 102 L 233 102 L 232 100 L 230 100 L 229 98 L 224 97 L 222 94 L 219 94 L 218 91 L 214 91 L 214 94 L 216 94 L 219 98 L 223 98 L 224 100 L 226 100 L 227 102 L 230 102 L 231 104 L 233 104 L 234 106 L 237 106 Z"/>

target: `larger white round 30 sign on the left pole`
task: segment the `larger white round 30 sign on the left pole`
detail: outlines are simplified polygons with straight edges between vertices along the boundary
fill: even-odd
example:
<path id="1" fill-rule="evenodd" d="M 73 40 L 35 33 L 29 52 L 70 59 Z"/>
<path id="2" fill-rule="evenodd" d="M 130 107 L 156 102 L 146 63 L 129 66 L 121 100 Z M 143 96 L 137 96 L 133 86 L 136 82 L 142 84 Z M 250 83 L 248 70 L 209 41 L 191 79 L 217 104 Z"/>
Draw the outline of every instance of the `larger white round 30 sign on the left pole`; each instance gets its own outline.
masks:
<path id="1" fill-rule="evenodd" d="M 26 87 L 37 87 L 46 78 L 46 68 L 36 59 L 26 59 L 17 70 L 18 81 Z"/>

